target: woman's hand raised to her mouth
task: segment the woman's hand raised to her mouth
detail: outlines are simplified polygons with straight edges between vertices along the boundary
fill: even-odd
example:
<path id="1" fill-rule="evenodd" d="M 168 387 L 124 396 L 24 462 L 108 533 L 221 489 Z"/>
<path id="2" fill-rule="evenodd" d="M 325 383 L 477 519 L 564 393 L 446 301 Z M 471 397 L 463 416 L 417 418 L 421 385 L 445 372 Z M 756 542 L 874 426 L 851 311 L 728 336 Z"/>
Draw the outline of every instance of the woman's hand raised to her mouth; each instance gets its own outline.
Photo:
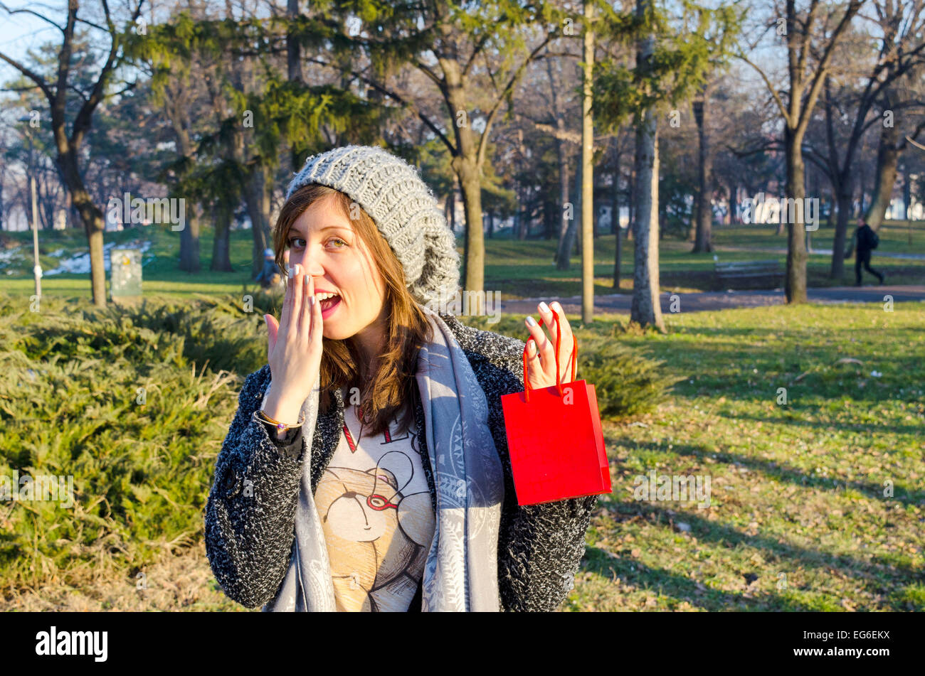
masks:
<path id="1" fill-rule="evenodd" d="M 321 304 L 314 297 L 314 279 L 304 272 L 298 263 L 290 268 L 280 320 L 264 316 L 272 377 L 264 413 L 285 423 L 298 420 L 321 369 Z"/>

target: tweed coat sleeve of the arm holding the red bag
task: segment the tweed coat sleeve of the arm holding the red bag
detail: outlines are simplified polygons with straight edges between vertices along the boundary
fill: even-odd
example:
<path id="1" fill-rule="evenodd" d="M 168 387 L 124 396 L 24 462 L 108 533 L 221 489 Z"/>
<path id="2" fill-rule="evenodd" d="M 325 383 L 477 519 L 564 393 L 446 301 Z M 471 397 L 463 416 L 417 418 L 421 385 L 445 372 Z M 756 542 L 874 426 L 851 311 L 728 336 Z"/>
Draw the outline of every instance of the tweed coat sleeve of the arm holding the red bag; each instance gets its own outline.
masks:
<path id="1" fill-rule="evenodd" d="M 504 506 L 498 543 L 503 610 L 556 610 L 573 588 L 585 555 L 585 534 L 597 495 L 538 505 L 517 504 L 501 395 L 524 391 L 524 342 L 474 332 L 467 353 L 488 404 L 488 426 L 504 467 Z"/>

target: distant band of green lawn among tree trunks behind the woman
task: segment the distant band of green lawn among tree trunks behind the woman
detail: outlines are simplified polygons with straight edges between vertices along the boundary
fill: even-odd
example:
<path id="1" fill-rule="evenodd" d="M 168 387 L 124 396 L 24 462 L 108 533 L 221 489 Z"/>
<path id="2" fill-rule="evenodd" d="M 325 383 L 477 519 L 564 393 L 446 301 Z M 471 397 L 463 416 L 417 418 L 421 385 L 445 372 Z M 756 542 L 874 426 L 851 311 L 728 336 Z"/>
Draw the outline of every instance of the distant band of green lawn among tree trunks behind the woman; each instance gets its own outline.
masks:
<path id="1" fill-rule="evenodd" d="M 912 223 L 911 242 L 906 223 L 886 223 L 881 230 L 881 246 L 874 252 L 872 264 L 882 269 L 889 284 L 925 283 L 925 260 L 887 259 L 881 252 L 925 254 L 925 223 Z M 717 247 L 786 248 L 786 237 L 773 234 L 772 226 L 717 227 L 714 231 Z M 6 293 L 30 295 L 31 233 L 6 233 L 12 241 L 26 245 L 11 260 L 0 261 L 0 288 Z M 58 260 L 86 251 L 86 238 L 78 230 L 41 233 L 43 270 L 48 272 Z M 231 233 L 231 263 L 236 272 L 210 272 L 212 231 L 203 229 L 200 251 L 203 271 L 179 272 L 179 234 L 168 227 L 147 226 L 106 233 L 105 241 L 124 245 L 132 240 L 147 239 L 152 247 L 145 254 L 142 288 L 145 294 L 183 297 L 191 294 L 243 294 L 245 286 L 253 290 L 250 274 L 252 239 L 249 230 Z M 820 229 L 812 235 L 813 246 L 831 248 L 833 231 Z M 630 294 L 633 291 L 633 242 L 623 243 L 620 289 L 613 288 L 615 238 L 600 235 L 595 240 L 595 294 Z M 691 245 L 677 239 L 660 242 L 660 283 L 663 291 L 691 293 L 720 290 L 713 273 L 712 253 L 692 254 Z M 462 253 L 462 239 L 457 240 Z M 485 288 L 499 291 L 503 297 L 578 296 L 581 294 L 581 257 L 573 255 L 571 269 L 558 271 L 552 263 L 556 243 L 549 240 L 515 241 L 510 237 L 486 240 Z M 60 252 L 60 253 L 59 253 Z M 59 254 L 52 256 L 51 254 Z M 786 264 L 786 256 L 761 251 L 720 250 L 720 260 L 768 260 Z M 150 260 L 150 261 L 149 261 Z M 831 257 L 812 255 L 808 259 L 809 286 L 854 284 L 854 260 L 845 261 L 841 279 L 829 277 Z M 8 274 L 13 272 L 13 274 Z M 865 273 L 866 275 L 867 273 Z M 869 281 L 872 278 L 869 278 Z M 62 273 L 45 276 L 43 293 L 51 296 L 90 296 L 87 274 Z"/>

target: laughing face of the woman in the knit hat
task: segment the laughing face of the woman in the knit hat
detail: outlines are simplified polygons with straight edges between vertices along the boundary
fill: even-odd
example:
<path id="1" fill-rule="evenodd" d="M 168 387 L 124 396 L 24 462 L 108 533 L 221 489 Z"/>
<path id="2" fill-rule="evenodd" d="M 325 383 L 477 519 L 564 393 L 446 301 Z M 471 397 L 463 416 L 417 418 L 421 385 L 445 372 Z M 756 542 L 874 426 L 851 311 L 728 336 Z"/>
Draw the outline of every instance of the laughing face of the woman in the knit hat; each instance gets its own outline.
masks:
<path id="1" fill-rule="evenodd" d="M 385 327 L 385 283 L 334 196 L 302 211 L 287 239 L 290 267 L 299 264 L 312 276 L 315 296 L 336 294 L 321 301 L 325 337 L 343 340 L 359 334 L 364 345 L 377 345 Z"/>

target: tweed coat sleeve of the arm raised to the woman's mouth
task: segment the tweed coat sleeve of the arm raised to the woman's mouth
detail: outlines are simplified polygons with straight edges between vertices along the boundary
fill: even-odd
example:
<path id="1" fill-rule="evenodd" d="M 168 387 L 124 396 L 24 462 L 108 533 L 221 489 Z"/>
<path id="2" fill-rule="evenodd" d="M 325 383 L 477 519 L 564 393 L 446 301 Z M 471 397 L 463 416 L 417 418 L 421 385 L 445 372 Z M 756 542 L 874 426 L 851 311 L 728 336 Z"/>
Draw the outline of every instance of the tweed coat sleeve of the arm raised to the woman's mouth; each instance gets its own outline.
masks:
<path id="1" fill-rule="evenodd" d="M 302 453 L 293 458 L 254 414 L 269 367 L 244 380 L 216 459 L 205 507 L 205 552 L 228 598 L 257 608 L 274 598 L 289 567 Z"/>

